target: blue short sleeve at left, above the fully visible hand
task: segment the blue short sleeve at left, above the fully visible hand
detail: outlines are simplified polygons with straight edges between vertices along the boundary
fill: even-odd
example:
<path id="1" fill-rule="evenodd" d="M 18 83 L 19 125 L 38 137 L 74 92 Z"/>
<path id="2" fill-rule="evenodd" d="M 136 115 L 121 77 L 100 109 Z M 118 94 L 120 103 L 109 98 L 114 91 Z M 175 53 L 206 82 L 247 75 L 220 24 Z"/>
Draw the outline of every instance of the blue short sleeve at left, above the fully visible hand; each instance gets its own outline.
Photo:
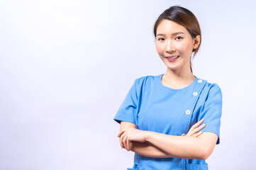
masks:
<path id="1" fill-rule="evenodd" d="M 117 123 L 121 121 L 126 121 L 130 123 L 135 123 L 135 115 L 137 111 L 137 101 L 138 97 L 136 94 L 136 80 L 133 83 L 133 86 L 128 91 L 126 98 L 118 109 L 113 120 L 116 120 Z"/>

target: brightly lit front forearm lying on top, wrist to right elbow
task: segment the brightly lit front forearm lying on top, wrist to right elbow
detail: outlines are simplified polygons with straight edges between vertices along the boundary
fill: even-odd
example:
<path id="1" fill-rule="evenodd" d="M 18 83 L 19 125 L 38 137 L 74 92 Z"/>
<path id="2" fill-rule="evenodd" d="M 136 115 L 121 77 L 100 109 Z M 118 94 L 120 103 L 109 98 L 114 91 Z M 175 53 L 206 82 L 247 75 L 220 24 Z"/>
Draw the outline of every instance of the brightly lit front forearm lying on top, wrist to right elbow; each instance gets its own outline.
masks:
<path id="1" fill-rule="evenodd" d="M 150 131 L 147 133 L 146 141 L 173 157 L 183 159 L 206 159 L 215 146 L 209 145 L 209 140 L 202 140 L 201 137 L 173 136 Z M 215 138 L 213 142 L 214 140 Z"/>

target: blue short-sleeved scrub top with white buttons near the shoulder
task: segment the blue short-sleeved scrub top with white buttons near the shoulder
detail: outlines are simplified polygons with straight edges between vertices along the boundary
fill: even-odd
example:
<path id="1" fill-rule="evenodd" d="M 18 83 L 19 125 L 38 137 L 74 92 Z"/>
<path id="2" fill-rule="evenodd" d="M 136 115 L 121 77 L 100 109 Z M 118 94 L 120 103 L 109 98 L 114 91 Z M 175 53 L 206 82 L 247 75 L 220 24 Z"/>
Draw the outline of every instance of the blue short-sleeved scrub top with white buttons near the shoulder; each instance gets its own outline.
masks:
<path id="1" fill-rule="evenodd" d="M 196 79 L 183 89 L 162 84 L 162 75 L 135 79 L 114 120 L 135 123 L 140 130 L 167 135 L 187 134 L 204 118 L 202 132 L 213 132 L 220 142 L 222 93 L 217 84 Z M 205 160 L 144 157 L 135 153 L 133 169 L 208 169 Z"/>

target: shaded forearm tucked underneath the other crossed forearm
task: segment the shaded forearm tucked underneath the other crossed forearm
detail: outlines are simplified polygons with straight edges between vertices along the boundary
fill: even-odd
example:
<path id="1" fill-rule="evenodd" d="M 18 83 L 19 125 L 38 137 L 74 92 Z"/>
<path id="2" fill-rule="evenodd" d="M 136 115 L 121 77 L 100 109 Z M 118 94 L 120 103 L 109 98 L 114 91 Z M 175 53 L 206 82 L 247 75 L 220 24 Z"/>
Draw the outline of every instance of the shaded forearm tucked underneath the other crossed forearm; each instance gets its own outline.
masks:
<path id="1" fill-rule="evenodd" d="M 171 154 L 155 147 L 150 142 L 131 142 L 130 150 L 145 157 L 173 157 Z"/>

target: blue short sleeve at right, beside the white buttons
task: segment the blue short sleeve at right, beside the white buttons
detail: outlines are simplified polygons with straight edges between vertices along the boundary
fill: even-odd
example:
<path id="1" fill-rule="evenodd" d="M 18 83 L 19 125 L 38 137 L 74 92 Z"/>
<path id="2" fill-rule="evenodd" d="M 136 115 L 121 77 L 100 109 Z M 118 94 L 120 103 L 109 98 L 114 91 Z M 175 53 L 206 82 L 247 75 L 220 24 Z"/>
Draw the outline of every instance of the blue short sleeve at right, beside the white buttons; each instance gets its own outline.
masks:
<path id="1" fill-rule="evenodd" d="M 208 91 L 204 109 L 199 113 L 199 120 L 204 118 L 206 127 L 202 132 L 213 132 L 218 135 L 216 144 L 220 143 L 220 128 L 221 128 L 221 114 L 222 114 L 222 93 L 218 84 L 212 84 Z"/>

